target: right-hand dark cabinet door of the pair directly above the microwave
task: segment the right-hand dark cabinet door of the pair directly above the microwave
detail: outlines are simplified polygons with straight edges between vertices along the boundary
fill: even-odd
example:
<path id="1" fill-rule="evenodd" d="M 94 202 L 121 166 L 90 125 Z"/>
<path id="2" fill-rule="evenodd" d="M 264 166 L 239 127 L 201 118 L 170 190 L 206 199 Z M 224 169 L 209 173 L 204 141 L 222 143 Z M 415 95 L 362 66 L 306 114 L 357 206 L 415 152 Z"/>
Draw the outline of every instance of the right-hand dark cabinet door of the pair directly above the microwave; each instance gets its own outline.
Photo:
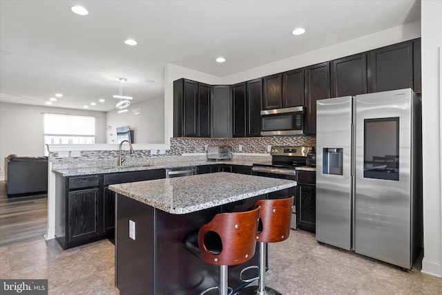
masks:
<path id="1" fill-rule="evenodd" d="M 304 105 L 304 69 L 282 73 L 282 107 Z"/>

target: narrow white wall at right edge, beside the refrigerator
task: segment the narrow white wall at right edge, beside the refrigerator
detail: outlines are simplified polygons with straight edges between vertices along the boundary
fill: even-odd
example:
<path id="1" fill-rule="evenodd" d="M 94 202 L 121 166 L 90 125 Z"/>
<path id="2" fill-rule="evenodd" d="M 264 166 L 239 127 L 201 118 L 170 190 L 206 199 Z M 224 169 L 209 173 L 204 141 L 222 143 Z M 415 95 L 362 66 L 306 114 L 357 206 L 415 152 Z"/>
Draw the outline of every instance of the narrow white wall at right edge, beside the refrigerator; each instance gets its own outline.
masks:
<path id="1" fill-rule="evenodd" d="M 423 249 L 422 272 L 442 277 L 442 1 L 421 2 Z"/>

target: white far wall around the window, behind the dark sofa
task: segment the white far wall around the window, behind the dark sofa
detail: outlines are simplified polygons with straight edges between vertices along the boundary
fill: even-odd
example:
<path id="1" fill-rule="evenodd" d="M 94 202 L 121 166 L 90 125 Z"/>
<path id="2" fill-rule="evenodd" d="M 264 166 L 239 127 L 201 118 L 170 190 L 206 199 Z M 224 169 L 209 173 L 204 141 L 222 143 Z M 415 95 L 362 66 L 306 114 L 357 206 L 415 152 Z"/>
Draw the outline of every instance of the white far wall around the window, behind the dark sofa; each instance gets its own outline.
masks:
<path id="1" fill-rule="evenodd" d="M 106 142 L 104 124 L 106 113 L 52 108 L 49 106 L 30 106 L 26 104 L 0 103 L 0 180 L 4 180 L 4 158 L 15 153 L 23 156 L 44 155 L 44 115 L 43 113 L 62 113 L 66 115 L 95 116 L 95 142 Z"/>

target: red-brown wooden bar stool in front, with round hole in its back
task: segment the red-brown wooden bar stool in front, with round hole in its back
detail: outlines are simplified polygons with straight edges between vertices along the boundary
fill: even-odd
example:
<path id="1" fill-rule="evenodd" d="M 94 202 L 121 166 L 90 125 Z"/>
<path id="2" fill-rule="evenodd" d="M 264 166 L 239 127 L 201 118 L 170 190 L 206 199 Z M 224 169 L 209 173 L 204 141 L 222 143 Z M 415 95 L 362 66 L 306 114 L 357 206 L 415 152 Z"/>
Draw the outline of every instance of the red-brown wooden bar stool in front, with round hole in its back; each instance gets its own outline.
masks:
<path id="1" fill-rule="evenodd" d="M 220 265 L 220 286 L 210 287 L 200 295 L 219 289 L 220 295 L 230 295 L 228 265 L 239 265 L 255 255 L 256 233 L 260 207 L 245 212 L 219 213 L 197 233 L 186 238 L 186 248 L 212 265 Z"/>

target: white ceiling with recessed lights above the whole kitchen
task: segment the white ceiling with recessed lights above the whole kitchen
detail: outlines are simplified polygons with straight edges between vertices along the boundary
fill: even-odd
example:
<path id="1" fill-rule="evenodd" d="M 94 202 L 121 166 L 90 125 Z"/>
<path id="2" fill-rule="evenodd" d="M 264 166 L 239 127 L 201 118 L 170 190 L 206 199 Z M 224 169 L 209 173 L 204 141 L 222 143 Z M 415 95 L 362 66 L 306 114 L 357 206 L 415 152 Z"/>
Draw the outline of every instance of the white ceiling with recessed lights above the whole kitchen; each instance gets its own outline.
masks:
<path id="1" fill-rule="evenodd" d="M 142 102 L 164 95 L 167 63 L 224 77 L 420 16 L 419 0 L 0 0 L 0 102 L 43 106 L 62 93 L 52 106 L 111 111 L 119 77 Z"/>

